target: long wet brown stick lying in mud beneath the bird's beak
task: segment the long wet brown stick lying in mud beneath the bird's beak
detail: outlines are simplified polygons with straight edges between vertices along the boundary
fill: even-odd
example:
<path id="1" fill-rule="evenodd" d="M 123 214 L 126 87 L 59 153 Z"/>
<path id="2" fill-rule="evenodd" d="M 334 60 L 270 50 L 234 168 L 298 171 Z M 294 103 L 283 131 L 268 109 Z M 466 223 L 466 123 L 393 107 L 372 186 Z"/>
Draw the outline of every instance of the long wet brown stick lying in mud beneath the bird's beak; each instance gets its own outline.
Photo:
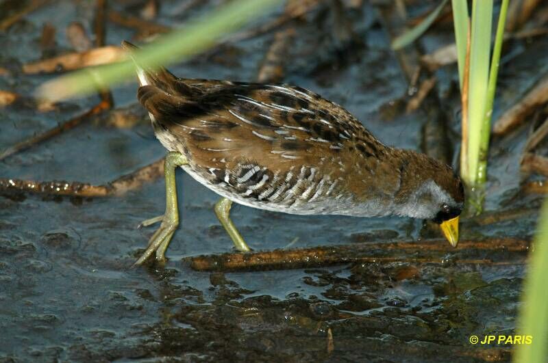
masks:
<path id="1" fill-rule="evenodd" d="M 456 249 L 445 240 L 397 243 L 356 243 L 303 248 L 299 250 L 273 250 L 266 252 L 232 253 L 184 258 L 197 271 L 255 271 L 266 269 L 296 269 L 344 263 L 448 263 L 450 252 L 505 251 L 527 252 L 530 241 L 523 239 L 486 239 L 461 241 Z M 405 256 L 386 256 L 400 252 Z M 436 253 L 437 252 L 437 253 Z M 412 257 L 410 257 L 412 256 Z M 462 259 L 451 262 L 466 264 L 510 265 L 508 261 L 488 259 Z"/>

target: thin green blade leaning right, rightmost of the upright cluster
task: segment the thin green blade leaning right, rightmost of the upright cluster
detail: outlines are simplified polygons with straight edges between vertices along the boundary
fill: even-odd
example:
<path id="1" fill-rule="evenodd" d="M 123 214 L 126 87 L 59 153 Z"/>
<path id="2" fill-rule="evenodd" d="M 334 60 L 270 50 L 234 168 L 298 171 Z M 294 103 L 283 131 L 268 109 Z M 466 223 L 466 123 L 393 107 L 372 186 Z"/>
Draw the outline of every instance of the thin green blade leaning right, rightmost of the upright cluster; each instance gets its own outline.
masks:
<path id="1" fill-rule="evenodd" d="M 493 55 L 491 56 L 491 66 L 489 70 L 489 83 L 487 86 L 487 97 L 485 103 L 484 120 L 482 124 L 482 139 L 479 144 L 479 162 L 477 165 L 477 181 L 484 184 L 487 179 L 487 157 L 489 149 L 489 137 L 491 133 L 491 116 L 493 115 L 493 100 L 495 100 L 495 89 L 497 88 L 497 75 L 499 74 L 499 63 L 501 59 L 501 49 L 504 36 L 504 25 L 506 24 L 506 12 L 508 10 L 509 0 L 502 0 L 501 11 L 499 14 L 499 23 L 497 25 L 497 35 L 495 36 L 495 45 Z"/>

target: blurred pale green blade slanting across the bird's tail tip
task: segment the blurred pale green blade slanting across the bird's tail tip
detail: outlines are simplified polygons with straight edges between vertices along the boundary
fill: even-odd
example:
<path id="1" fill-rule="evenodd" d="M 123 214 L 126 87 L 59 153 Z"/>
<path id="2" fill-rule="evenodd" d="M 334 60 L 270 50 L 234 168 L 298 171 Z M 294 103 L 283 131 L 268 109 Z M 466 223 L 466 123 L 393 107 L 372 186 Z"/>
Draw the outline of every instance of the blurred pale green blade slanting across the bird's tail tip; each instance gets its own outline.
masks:
<path id="1" fill-rule="evenodd" d="M 282 0 L 235 0 L 205 14 L 182 29 L 162 36 L 136 53 L 140 64 L 160 66 L 186 59 L 213 46 L 250 20 L 256 19 Z M 135 77 L 132 62 L 87 68 L 44 83 L 38 97 L 60 100 L 89 94 Z"/>

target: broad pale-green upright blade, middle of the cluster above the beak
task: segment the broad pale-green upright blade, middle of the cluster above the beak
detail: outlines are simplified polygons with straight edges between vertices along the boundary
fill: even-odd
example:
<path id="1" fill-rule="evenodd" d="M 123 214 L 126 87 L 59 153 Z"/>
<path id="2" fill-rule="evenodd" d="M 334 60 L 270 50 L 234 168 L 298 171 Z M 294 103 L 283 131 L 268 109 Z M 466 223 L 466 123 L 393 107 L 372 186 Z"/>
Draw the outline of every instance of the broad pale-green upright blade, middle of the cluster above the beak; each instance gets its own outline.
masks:
<path id="1" fill-rule="evenodd" d="M 489 55 L 493 23 L 493 0 L 474 0 L 472 3 L 472 32 L 469 79 L 469 170 L 463 175 L 470 186 L 476 185 L 479 161 L 479 142 L 485 116 Z"/>

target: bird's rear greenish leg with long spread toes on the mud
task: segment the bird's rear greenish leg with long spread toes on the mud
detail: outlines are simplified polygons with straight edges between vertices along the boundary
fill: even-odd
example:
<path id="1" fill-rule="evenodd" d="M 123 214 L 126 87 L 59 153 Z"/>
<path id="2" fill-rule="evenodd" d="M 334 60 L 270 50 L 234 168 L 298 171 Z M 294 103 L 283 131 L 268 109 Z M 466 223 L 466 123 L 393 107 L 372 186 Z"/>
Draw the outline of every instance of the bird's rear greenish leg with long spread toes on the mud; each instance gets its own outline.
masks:
<path id="1" fill-rule="evenodd" d="M 166 177 L 166 212 L 163 216 L 147 219 L 142 222 L 142 226 L 149 226 L 155 222 L 162 221 L 160 227 L 149 240 L 149 245 L 145 253 L 134 263 L 140 265 L 147 258 L 156 252 L 156 260 L 160 263 L 165 261 L 165 252 L 173 233 L 179 226 L 179 210 L 177 209 L 177 187 L 175 184 L 175 169 L 178 166 L 188 163 L 186 157 L 179 152 L 169 152 L 164 162 L 164 176 Z"/>

